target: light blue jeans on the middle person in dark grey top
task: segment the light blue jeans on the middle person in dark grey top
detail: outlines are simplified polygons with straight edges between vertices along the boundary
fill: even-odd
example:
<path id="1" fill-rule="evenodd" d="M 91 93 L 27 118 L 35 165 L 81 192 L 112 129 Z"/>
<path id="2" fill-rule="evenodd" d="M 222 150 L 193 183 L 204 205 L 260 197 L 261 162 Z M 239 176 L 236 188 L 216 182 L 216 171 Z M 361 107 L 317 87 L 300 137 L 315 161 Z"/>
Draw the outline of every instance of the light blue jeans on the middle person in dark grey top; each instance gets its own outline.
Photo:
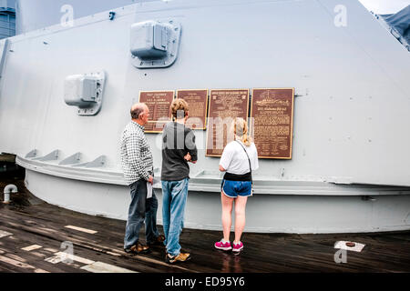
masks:
<path id="1" fill-rule="evenodd" d="M 180 253 L 179 235 L 184 226 L 189 178 L 180 181 L 161 181 L 161 183 L 164 245 L 169 255 L 177 256 Z"/>

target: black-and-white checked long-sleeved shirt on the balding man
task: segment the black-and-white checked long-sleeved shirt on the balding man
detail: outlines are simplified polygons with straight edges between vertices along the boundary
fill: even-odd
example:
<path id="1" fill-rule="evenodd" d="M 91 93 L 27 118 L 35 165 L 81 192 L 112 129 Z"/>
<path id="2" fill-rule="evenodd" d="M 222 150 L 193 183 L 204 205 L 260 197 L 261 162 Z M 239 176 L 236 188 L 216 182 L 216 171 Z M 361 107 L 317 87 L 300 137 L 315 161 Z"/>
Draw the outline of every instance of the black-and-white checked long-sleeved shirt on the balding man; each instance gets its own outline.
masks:
<path id="1" fill-rule="evenodd" d="M 128 185 L 153 176 L 152 153 L 147 137 L 144 135 L 144 126 L 131 121 L 121 135 L 121 166 Z"/>

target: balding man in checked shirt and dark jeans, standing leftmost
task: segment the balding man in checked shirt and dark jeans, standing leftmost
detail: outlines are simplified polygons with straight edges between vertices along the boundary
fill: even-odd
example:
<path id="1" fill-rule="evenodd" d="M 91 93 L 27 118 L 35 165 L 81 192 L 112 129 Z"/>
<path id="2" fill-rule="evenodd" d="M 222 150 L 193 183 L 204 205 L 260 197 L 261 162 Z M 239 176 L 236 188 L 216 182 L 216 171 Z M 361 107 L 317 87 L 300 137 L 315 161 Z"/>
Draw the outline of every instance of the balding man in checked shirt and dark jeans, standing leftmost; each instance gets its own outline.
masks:
<path id="1" fill-rule="evenodd" d="M 149 107 L 138 103 L 131 107 L 131 121 L 121 135 L 121 166 L 131 189 L 131 204 L 124 237 L 126 253 L 147 254 L 149 246 L 163 246 L 164 236 L 157 229 L 158 200 L 155 193 L 147 199 L 147 183 L 153 184 L 153 164 L 144 125 L 149 120 Z M 145 220 L 147 244 L 138 241 L 138 233 Z"/>

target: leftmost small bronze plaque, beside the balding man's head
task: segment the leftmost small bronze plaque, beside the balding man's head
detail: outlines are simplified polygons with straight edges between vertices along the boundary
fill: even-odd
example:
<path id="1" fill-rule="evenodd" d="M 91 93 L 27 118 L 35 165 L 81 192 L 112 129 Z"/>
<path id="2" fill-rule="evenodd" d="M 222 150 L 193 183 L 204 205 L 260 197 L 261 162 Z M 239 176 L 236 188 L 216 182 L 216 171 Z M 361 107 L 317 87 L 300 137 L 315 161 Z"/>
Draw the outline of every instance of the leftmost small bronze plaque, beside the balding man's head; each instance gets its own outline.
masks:
<path id="1" fill-rule="evenodd" d="M 174 91 L 140 91 L 139 102 L 149 107 L 149 122 L 145 125 L 146 133 L 161 133 L 164 125 L 172 120 L 170 105 L 174 100 Z"/>

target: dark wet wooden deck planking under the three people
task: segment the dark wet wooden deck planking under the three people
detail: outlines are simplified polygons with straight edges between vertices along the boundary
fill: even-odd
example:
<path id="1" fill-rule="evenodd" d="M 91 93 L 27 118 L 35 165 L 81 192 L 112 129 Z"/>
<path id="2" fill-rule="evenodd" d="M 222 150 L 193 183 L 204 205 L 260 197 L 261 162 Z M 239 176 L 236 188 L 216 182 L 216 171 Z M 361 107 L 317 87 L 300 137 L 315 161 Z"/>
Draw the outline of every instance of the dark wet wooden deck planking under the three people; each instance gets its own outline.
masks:
<path id="1" fill-rule="evenodd" d="M 9 181 L 0 181 L 0 189 Z M 16 181 L 23 193 L 12 196 L 13 203 L 0 205 L 0 229 L 13 236 L 0 239 L 0 256 L 24 261 L 47 272 L 86 272 L 84 264 L 74 262 L 51 264 L 45 257 L 54 256 L 46 249 L 60 251 L 63 241 L 71 241 L 74 255 L 136 272 L 410 272 L 410 232 L 384 234 L 289 235 L 244 233 L 245 250 L 232 256 L 213 248 L 221 231 L 184 229 L 180 237 L 183 250 L 192 259 L 185 264 L 169 266 L 164 262 L 164 250 L 155 247 L 143 256 L 128 256 L 122 250 L 125 221 L 87 216 L 46 203 L 30 206 L 30 194 Z M 2 192 L 2 191 L 1 191 Z M 77 226 L 97 231 L 88 234 L 65 226 Z M 246 228 L 245 228 L 246 231 Z M 143 228 L 141 240 L 145 239 Z M 333 248 L 337 240 L 352 240 L 365 244 L 361 253 L 347 252 L 347 264 L 336 264 Z M 24 251 L 26 246 L 39 245 L 36 251 Z M 3 252 L 3 254 L 2 254 Z M 43 256 L 43 257 L 42 257 Z M 0 260 L 1 272 L 33 272 L 33 269 L 13 266 Z"/>

